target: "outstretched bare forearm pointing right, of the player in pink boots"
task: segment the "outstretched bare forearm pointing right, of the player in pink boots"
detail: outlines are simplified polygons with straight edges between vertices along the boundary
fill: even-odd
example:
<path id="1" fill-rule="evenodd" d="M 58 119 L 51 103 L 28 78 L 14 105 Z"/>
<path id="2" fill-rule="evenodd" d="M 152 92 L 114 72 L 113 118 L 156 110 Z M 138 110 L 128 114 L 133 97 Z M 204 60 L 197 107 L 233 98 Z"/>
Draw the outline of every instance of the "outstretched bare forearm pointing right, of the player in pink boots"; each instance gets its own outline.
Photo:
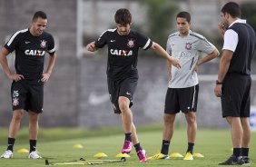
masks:
<path id="1" fill-rule="evenodd" d="M 163 58 L 167 59 L 167 61 L 172 64 L 173 66 L 175 66 L 176 68 L 181 68 L 181 64 L 179 59 L 177 58 L 173 58 L 172 56 L 170 56 L 163 48 L 160 44 L 154 43 L 152 44 L 151 48 L 153 49 L 153 51 L 158 54 L 161 55 Z"/>

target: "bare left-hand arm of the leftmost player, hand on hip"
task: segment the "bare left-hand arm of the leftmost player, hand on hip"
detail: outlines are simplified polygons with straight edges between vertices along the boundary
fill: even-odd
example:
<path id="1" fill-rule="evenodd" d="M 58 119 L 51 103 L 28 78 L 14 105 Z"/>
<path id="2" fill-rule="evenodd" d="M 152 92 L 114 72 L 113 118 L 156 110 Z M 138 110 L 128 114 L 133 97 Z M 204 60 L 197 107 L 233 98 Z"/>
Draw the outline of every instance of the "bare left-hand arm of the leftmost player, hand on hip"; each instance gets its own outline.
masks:
<path id="1" fill-rule="evenodd" d="M 0 50 L 0 64 L 3 67 L 3 70 L 4 70 L 5 74 L 7 75 L 7 77 L 10 80 L 15 80 L 16 82 L 21 80 L 21 79 L 24 79 L 24 76 L 22 74 L 14 74 L 14 73 L 12 73 L 12 71 L 11 71 L 9 65 L 8 65 L 7 58 L 6 58 L 6 56 L 8 54 L 10 54 L 10 53 L 9 53 L 9 51 L 5 47 L 3 47 Z"/>

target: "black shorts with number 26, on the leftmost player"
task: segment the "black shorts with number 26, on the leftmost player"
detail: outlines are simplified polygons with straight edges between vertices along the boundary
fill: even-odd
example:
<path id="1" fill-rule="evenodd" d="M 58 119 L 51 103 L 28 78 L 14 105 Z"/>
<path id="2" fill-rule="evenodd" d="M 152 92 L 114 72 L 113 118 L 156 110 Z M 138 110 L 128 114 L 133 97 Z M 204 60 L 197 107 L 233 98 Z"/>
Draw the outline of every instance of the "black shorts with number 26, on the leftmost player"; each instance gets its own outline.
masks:
<path id="1" fill-rule="evenodd" d="M 14 111 L 24 109 L 34 113 L 43 113 L 44 84 L 13 82 L 11 97 Z"/>

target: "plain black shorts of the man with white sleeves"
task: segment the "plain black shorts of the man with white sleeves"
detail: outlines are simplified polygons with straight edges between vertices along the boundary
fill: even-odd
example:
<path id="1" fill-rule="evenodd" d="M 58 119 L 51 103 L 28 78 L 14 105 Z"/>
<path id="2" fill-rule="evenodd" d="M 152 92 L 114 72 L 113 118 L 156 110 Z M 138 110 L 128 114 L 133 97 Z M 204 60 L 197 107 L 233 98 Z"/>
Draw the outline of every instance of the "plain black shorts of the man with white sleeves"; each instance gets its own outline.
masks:
<path id="1" fill-rule="evenodd" d="M 227 74 L 222 83 L 222 117 L 250 117 L 251 76 Z"/>

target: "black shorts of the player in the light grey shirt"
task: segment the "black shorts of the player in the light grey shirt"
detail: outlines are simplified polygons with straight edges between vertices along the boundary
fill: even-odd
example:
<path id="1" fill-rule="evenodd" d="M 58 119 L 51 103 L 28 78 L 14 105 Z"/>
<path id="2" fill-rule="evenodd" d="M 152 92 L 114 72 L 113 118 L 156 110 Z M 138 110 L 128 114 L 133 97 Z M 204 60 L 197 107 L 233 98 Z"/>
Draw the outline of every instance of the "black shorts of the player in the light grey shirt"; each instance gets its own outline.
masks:
<path id="1" fill-rule="evenodd" d="M 164 113 L 196 112 L 199 85 L 187 88 L 168 88 Z"/>

